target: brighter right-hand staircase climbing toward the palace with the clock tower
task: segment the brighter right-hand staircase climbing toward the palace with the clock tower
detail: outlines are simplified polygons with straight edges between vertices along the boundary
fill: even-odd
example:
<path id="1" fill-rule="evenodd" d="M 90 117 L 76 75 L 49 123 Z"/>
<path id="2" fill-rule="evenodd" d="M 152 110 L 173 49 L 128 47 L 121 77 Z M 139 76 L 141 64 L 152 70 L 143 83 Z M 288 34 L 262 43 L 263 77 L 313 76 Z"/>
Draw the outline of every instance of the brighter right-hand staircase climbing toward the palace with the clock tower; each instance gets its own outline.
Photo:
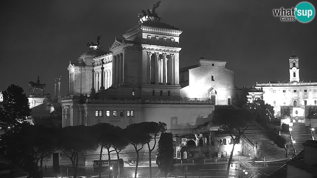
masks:
<path id="1" fill-rule="evenodd" d="M 296 142 L 294 143 L 296 155 L 300 153 L 303 149 L 303 143 L 306 140 L 313 139 L 312 133 L 309 126 L 305 126 L 305 123 L 294 122 L 292 128 L 292 138 Z"/>

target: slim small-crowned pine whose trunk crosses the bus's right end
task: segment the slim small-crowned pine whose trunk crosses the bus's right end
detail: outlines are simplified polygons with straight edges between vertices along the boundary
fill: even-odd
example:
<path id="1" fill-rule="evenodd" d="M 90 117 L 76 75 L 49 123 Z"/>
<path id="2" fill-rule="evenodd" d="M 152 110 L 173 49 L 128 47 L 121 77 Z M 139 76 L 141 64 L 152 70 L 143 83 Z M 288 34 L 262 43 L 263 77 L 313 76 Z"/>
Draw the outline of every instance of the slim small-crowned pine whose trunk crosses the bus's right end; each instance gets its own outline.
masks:
<path id="1" fill-rule="evenodd" d="M 115 139 L 112 143 L 112 147 L 117 153 L 117 162 L 118 162 L 118 178 L 120 178 L 120 164 L 119 164 L 119 153 L 121 150 L 126 149 L 126 147 L 129 144 L 129 140 L 126 137 L 126 134 L 124 133 L 124 130 L 122 130 L 120 127 L 115 128 Z"/>

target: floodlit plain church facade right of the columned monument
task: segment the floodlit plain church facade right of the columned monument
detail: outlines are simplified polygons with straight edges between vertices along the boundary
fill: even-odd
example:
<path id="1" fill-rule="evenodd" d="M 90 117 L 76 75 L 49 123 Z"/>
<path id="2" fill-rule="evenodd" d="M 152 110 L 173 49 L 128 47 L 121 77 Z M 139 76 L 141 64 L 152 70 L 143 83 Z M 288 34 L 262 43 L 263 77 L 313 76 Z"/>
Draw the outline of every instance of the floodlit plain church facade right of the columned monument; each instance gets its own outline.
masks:
<path id="1" fill-rule="evenodd" d="M 199 59 L 198 65 L 183 68 L 180 77 L 181 97 L 183 99 L 216 99 L 216 105 L 230 105 L 234 101 L 235 73 L 225 68 L 227 61 Z M 186 81 L 188 79 L 188 81 Z M 187 83 L 188 85 L 184 84 Z M 230 99 L 230 103 L 228 103 Z"/>

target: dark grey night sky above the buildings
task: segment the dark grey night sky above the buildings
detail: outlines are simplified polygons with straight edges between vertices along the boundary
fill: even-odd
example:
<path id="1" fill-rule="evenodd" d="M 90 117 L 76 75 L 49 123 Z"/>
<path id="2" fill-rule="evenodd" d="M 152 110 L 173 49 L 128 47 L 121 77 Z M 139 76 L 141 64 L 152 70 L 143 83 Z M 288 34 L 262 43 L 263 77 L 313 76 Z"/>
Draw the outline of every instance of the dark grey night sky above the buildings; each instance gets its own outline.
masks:
<path id="1" fill-rule="evenodd" d="M 269 80 L 289 80 L 288 57 L 299 56 L 300 79 L 317 81 L 317 19 L 309 23 L 281 22 L 272 9 L 292 8 L 301 1 L 162 0 L 156 10 L 161 22 L 183 30 L 180 67 L 199 57 L 228 60 L 236 86 Z M 316 1 L 308 1 L 317 7 Z M 20 85 L 27 95 L 29 81 L 41 83 L 54 95 L 62 75 L 67 94 L 69 60 L 77 62 L 86 43 L 102 35 L 105 51 L 115 36 L 138 25 L 138 13 L 156 0 L 137 1 L 6 1 L 1 7 L 1 83 Z M 316 15 L 315 15 L 316 16 Z"/>

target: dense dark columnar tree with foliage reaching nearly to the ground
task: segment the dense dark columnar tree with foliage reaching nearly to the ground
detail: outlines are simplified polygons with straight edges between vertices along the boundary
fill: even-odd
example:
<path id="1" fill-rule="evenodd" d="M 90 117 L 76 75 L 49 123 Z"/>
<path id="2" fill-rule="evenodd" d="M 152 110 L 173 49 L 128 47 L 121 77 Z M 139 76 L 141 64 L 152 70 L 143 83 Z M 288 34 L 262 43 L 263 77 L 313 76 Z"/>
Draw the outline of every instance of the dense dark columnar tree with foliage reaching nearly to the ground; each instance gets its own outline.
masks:
<path id="1" fill-rule="evenodd" d="M 167 174 L 174 170 L 174 148 L 173 148 L 173 135 L 172 133 L 163 132 L 159 139 L 158 156 L 156 164 L 159 169 Z"/>

